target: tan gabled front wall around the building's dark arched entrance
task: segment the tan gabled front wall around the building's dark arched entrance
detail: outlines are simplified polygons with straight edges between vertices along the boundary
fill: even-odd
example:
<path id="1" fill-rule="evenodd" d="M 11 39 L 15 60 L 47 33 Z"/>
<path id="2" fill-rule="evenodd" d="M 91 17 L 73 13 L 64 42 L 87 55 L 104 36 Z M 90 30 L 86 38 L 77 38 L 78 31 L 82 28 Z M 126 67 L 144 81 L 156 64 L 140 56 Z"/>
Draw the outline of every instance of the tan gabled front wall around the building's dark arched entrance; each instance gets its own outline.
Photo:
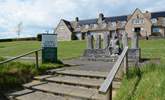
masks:
<path id="1" fill-rule="evenodd" d="M 133 20 L 142 19 L 143 21 L 140 24 L 134 24 Z M 151 21 L 143 15 L 143 13 L 137 9 L 132 16 L 129 17 L 128 22 L 125 26 L 125 31 L 128 33 L 128 37 L 131 37 L 135 28 L 140 28 L 141 36 L 151 35 Z"/>

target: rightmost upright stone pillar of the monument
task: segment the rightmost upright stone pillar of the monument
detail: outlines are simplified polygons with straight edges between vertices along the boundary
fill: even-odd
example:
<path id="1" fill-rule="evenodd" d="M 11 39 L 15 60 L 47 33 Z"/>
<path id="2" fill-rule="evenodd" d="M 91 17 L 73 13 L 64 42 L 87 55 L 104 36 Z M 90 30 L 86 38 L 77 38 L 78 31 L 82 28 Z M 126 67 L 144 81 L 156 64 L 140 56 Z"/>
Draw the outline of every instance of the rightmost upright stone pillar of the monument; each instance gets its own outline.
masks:
<path id="1" fill-rule="evenodd" d="M 133 49 L 139 48 L 139 38 L 138 38 L 138 33 L 137 32 L 133 32 L 133 34 L 132 34 L 131 48 L 133 48 Z"/>

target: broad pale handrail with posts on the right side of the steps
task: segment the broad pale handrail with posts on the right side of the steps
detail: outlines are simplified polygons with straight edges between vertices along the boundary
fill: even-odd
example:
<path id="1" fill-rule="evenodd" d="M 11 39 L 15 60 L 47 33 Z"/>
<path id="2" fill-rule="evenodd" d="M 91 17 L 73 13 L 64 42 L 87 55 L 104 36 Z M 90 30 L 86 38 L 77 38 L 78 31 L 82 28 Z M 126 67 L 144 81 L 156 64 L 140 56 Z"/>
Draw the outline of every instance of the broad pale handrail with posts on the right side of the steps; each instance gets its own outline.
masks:
<path id="1" fill-rule="evenodd" d="M 125 47 L 116 63 L 114 64 L 112 70 L 109 72 L 107 78 L 99 88 L 99 93 L 106 94 L 107 100 L 112 100 L 112 81 L 115 78 L 122 61 L 124 60 L 124 73 L 128 73 L 128 47 Z"/>

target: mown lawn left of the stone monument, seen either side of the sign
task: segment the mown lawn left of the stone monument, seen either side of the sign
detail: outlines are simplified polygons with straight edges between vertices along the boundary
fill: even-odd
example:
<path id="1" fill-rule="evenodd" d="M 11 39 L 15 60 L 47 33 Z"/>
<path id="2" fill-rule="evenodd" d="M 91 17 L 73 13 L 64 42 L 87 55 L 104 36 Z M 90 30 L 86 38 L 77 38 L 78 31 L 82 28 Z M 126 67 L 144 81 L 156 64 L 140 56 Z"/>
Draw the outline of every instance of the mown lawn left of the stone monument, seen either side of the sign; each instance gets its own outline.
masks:
<path id="1" fill-rule="evenodd" d="M 0 42 L 0 57 L 17 56 L 41 48 L 39 41 Z M 63 41 L 58 43 L 59 59 L 70 59 L 81 56 L 85 48 L 84 41 Z"/>

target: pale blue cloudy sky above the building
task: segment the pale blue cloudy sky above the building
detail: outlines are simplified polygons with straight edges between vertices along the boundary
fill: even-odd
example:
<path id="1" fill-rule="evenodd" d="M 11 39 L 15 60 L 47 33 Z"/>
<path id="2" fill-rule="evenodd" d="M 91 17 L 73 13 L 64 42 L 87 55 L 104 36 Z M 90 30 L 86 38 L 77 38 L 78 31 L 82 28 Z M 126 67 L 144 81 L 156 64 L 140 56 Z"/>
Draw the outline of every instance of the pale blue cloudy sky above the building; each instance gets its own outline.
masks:
<path id="1" fill-rule="evenodd" d="M 127 15 L 136 8 L 165 11 L 164 4 L 165 0 L 0 0 L 0 39 L 18 37 L 19 29 L 20 37 L 51 33 L 60 19 Z"/>

